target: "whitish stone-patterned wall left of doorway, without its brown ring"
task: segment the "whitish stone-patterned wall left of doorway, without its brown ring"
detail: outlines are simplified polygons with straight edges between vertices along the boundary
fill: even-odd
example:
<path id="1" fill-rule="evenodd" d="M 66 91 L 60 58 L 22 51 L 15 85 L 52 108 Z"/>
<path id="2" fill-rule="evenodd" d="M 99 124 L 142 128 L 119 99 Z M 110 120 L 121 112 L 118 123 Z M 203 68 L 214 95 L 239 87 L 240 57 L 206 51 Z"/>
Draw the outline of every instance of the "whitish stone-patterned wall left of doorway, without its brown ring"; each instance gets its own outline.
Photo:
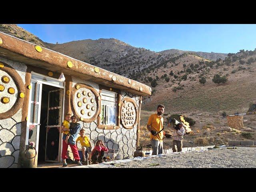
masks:
<path id="1" fill-rule="evenodd" d="M 12 66 L 16 72 L 20 75 L 23 84 L 25 84 L 25 75 L 27 66 L 23 63 L 14 62 L 5 58 L 0 57 L 0 62 L 6 63 Z M 0 68 L 0 76 L 6 75 L 6 72 L 3 72 Z M 10 77 L 10 76 L 8 76 Z M 2 83 L 2 80 L 0 82 Z M 8 84 L 3 84 L 5 86 L 5 91 L 8 87 L 12 87 L 15 90 L 15 94 L 11 95 L 10 100 L 17 99 L 17 88 L 10 78 Z M 2 98 L 3 94 L 0 92 L 0 97 Z M 4 106 L 5 104 L 0 103 L 1 111 L 4 112 L 7 108 L 11 108 L 14 102 L 9 102 L 9 105 Z M 0 168 L 16 168 L 18 167 L 18 158 L 20 152 L 20 136 L 21 136 L 21 121 L 22 121 L 22 109 L 20 108 L 16 114 L 11 118 L 6 118 L 0 120 Z"/>

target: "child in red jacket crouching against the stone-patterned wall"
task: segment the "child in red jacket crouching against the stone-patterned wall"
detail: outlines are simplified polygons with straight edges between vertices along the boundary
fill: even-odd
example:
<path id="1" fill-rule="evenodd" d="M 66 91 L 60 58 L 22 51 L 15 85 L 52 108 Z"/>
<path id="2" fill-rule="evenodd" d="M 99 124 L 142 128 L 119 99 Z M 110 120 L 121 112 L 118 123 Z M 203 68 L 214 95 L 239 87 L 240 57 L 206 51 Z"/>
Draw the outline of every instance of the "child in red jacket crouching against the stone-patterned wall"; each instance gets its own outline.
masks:
<path id="1" fill-rule="evenodd" d="M 92 163 L 93 164 L 102 163 L 104 151 L 108 151 L 108 148 L 106 148 L 106 146 L 104 145 L 102 140 L 98 140 L 96 143 L 96 146 L 92 150 Z"/>

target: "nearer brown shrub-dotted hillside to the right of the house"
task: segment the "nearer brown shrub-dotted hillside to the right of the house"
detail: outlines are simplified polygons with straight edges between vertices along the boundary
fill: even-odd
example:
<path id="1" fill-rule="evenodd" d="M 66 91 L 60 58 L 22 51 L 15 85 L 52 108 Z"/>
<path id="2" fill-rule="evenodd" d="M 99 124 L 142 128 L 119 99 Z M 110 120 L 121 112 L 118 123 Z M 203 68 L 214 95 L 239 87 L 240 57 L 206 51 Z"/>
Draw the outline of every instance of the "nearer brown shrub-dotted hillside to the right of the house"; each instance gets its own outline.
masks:
<path id="1" fill-rule="evenodd" d="M 215 84 L 216 74 L 227 82 Z M 153 90 L 152 96 L 144 97 L 145 110 L 155 110 L 162 103 L 166 112 L 245 113 L 250 102 L 256 103 L 256 50 L 240 50 L 216 61 L 183 55 L 175 62 L 149 68 L 140 77 Z M 199 82 L 202 77 L 205 84 Z"/>

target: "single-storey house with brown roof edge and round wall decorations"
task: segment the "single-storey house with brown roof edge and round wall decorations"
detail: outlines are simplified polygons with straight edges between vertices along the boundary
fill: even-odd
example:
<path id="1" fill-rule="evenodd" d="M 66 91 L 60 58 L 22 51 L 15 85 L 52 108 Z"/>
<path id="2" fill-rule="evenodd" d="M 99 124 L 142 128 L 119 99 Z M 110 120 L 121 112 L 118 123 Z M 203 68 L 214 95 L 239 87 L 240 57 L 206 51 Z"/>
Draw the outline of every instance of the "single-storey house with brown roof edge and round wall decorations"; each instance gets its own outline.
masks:
<path id="1" fill-rule="evenodd" d="M 2 32 L 0 73 L 0 168 L 20 167 L 30 144 L 36 163 L 61 162 L 66 113 L 78 116 L 92 147 L 103 140 L 133 157 L 149 86 Z"/>

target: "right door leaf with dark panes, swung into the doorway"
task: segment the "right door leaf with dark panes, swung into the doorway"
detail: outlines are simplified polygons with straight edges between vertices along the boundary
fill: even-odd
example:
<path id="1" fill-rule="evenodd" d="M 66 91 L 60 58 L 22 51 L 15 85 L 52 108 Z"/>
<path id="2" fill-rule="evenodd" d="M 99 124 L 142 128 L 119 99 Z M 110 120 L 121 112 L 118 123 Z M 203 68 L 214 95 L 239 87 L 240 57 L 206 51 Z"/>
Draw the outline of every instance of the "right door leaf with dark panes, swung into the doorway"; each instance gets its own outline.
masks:
<path id="1" fill-rule="evenodd" d="M 49 91 L 46 130 L 46 162 L 60 161 L 63 89 Z"/>

